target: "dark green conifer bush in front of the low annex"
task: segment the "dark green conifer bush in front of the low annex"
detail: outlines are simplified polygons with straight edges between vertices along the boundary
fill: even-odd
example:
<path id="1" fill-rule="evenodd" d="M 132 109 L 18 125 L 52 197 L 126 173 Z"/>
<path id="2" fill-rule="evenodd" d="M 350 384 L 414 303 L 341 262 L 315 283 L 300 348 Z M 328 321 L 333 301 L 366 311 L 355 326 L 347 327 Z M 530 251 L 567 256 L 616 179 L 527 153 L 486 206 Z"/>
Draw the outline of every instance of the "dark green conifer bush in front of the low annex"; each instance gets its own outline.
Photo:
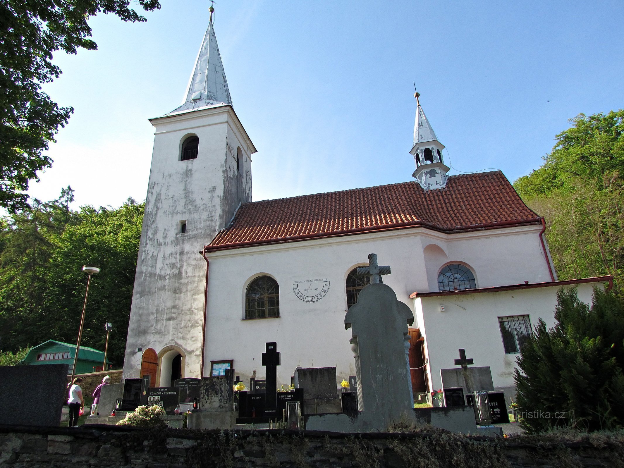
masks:
<path id="1" fill-rule="evenodd" d="M 595 290 L 591 307 L 576 290 L 560 290 L 556 324 L 544 321 L 522 346 L 517 414 L 535 433 L 555 427 L 587 431 L 624 427 L 624 303 Z"/>

